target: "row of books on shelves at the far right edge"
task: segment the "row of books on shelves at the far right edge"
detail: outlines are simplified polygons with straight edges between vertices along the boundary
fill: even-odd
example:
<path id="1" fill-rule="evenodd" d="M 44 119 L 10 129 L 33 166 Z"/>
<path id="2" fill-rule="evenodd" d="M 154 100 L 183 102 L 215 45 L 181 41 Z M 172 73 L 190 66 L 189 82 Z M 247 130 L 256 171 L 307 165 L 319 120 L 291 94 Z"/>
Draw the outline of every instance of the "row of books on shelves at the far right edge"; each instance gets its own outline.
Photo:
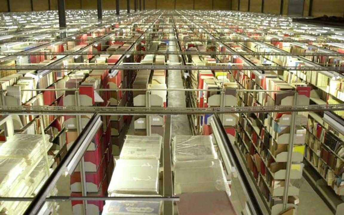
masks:
<path id="1" fill-rule="evenodd" d="M 292 49 L 290 52 L 295 53 L 316 51 L 311 49 L 310 47 L 305 48 L 297 45 L 291 45 L 291 48 Z M 276 59 L 274 59 L 273 61 L 276 62 L 278 65 L 299 67 L 305 65 L 302 60 L 294 57 L 279 56 L 279 59 L 281 59 L 282 61 L 277 61 Z M 343 59 L 340 57 L 325 58 L 322 56 L 312 57 L 310 58 L 310 60 L 313 60 L 314 62 L 319 63 L 323 66 L 341 66 L 341 62 L 343 61 Z M 331 76 L 328 76 L 326 74 L 322 74 L 319 72 L 284 71 L 283 79 L 288 83 L 309 83 L 311 84 L 311 86 L 316 87 L 312 94 L 313 96 L 311 97 L 311 99 L 316 104 L 341 104 L 342 101 L 340 100 L 343 100 L 344 98 L 342 98 L 341 79 L 333 79 Z M 339 116 L 342 116 L 341 111 L 335 111 L 335 113 Z M 342 153 L 342 144 L 340 143 L 341 141 L 338 140 L 337 136 L 333 133 L 328 132 L 327 134 L 327 132 L 325 132 L 325 129 L 323 129 L 319 123 L 315 122 L 315 124 L 316 125 L 313 126 L 312 122 L 308 122 L 310 130 L 315 130 L 315 133 L 307 132 L 308 136 L 311 137 L 306 138 L 306 143 L 309 144 L 309 147 L 305 151 L 305 158 L 312 163 L 315 169 L 327 181 L 327 184 L 332 186 L 332 188 L 337 191 L 337 194 L 340 194 L 341 192 L 338 190 L 340 190 L 340 188 L 344 185 L 344 183 L 342 183 L 343 159 L 341 158 L 342 156 L 338 154 L 338 152 Z M 324 137 L 327 137 L 327 141 L 324 140 Z M 337 151 L 331 149 L 331 147 L 322 146 L 322 143 L 327 142 L 332 143 L 332 148 L 337 149 Z"/>

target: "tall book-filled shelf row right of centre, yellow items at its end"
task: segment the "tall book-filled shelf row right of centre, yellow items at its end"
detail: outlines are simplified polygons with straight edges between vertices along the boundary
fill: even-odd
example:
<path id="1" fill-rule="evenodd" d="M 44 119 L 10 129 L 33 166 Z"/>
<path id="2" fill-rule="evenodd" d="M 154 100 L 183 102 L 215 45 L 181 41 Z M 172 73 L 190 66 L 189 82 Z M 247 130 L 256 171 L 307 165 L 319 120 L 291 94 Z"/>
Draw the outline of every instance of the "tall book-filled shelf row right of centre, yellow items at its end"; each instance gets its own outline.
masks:
<path id="1" fill-rule="evenodd" d="M 235 48 L 238 49 L 239 47 Z M 236 63 L 238 62 L 237 58 L 229 57 L 229 62 Z M 259 58 L 255 62 L 257 64 L 264 63 Z M 241 106 L 289 105 L 295 92 L 297 92 L 294 86 L 284 82 L 273 72 L 259 77 L 250 71 L 233 71 L 232 74 L 243 89 L 282 90 L 282 92 L 269 93 L 240 92 L 238 97 Z M 310 89 L 306 91 L 309 92 Z M 300 95 L 300 93 L 298 94 Z M 288 97 L 291 99 L 288 99 L 288 102 L 284 101 Z M 282 117 L 283 115 L 284 117 Z M 259 118 L 259 116 L 262 118 Z M 288 122 L 284 123 L 282 119 L 286 118 L 288 121 L 289 117 L 290 113 L 240 115 L 237 132 L 240 149 L 246 155 L 248 166 L 271 207 L 280 204 L 282 201 L 280 196 L 284 190 L 288 151 L 293 152 L 292 159 L 294 163 L 291 167 L 291 178 L 300 179 L 302 176 L 303 164 L 301 161 L 304 154 L 304 139 L 294 141 L 296 143 L 294 148 L 289 149 L 288 140 L 286 140 L 286 144 L 282 138 L 284 132 L 286 134 L 290 132 L 290 130 L 288 132 L 290 121 L 288 124 Z M 303 129 L 300 131 L 303 132 Z M 289 191 L 288 195 L 290 196 L 299 194 L 299 189 L 294 186 L 291 186 Z"/>

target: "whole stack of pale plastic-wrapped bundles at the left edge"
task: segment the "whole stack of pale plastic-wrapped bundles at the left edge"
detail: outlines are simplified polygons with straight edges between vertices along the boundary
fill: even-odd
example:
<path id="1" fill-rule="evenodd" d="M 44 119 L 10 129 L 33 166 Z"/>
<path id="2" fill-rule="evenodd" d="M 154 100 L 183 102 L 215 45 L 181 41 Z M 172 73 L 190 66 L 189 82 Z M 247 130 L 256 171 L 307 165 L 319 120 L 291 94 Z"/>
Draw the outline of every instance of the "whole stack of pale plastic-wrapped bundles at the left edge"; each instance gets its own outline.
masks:
<path id="1" fill-rule="evenodd" d="M 45 139 L 45 140 L 43 140 Z M 50 136 L 16 134 L 0 146 L 0 191 L 2 196 L 32 196 L 37 187 L 44 183 L 44 153 L 51 148 Z M 46 148 L 44 148 L 44 141 Z M 50 163 L 53 157 L 49 156 Z M 22 214 L 29 202 L 1 202 L 0 214 Z"/>

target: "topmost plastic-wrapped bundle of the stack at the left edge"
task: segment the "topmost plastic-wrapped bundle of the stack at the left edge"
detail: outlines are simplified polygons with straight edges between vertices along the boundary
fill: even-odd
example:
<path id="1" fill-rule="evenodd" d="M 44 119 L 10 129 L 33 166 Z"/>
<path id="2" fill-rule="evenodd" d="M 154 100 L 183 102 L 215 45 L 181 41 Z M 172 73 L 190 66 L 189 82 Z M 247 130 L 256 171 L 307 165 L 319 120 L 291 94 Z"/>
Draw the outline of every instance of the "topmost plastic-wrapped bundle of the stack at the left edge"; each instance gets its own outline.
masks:
<path id="1" fill-rule="evenodd" d="M 0 158 L 31 159 L 42 156 L 43 152 L 47 152 L 52 147 L 49 139 L 50 136 L 45 135 L 47 149 L 44 149 L 42 135 L 16 134 L 2 144 Z"/>

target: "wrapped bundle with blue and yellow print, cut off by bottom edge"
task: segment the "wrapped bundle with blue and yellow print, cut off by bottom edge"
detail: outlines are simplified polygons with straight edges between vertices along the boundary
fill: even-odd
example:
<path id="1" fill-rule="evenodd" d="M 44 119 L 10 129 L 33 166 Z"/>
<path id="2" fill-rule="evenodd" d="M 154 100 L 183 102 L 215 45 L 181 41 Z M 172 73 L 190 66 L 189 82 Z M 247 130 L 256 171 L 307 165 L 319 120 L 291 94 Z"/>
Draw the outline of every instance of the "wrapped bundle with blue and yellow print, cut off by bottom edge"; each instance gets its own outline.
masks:
<path id="1" fill-rule="evenodd" d="M 102 215 L 160 215 L 161 202 L 105 201 Z"/>

